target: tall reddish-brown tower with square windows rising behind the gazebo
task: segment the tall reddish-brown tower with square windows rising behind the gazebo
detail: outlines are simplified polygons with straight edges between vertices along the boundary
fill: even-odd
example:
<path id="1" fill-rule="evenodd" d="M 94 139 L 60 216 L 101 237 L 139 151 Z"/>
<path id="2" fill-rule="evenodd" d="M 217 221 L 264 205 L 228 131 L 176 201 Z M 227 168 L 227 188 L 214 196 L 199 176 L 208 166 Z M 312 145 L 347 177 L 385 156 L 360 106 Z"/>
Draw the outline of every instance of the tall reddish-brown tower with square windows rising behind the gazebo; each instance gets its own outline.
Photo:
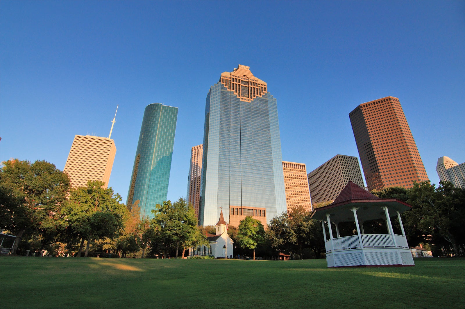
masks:
<path id="1" fill-rule="evenodd" d="M 360 104 L 349 117 L 369 191 L 429 180 L 399 98 Z"/>

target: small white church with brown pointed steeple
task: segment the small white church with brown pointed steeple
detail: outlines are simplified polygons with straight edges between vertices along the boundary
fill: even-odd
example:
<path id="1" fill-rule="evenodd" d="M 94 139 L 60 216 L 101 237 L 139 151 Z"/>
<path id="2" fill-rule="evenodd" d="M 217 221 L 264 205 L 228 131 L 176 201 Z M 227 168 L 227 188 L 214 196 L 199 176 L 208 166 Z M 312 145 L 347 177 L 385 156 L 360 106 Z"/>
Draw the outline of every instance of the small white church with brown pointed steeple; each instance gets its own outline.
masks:
<path id="1" fill-rule="evenodd" d="M 215 258 L 234 257 L 233 239 L 228 235 L 227 224 L 223 217 L 223 211 L 219 214 L 218 223 L 215 224 L 216 234 L 207 234 L 208 246 L 198 246 L 189 248 L 189 257 L 213 255 Z"/>

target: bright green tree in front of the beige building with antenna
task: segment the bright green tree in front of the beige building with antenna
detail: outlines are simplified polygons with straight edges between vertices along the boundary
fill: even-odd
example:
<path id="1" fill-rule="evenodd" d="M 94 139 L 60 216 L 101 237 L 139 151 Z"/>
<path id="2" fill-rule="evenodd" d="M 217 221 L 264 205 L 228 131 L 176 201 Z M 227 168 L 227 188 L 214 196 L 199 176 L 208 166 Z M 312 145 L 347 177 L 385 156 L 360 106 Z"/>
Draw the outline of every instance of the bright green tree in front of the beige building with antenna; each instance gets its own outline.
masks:
<path id="1" fill-rule="evenodd" d="M 62 209 L 68 239 L 80 239 L 78 257 L 87 241 L 85 257 L 90 243 L 102 238 L 113 239 L 124 226 L 126 206 L 120 204 L 120 194 L 102 188 L 103 181 L 87 182 L 87 187 L 73 188 L 69 202 Z"/>

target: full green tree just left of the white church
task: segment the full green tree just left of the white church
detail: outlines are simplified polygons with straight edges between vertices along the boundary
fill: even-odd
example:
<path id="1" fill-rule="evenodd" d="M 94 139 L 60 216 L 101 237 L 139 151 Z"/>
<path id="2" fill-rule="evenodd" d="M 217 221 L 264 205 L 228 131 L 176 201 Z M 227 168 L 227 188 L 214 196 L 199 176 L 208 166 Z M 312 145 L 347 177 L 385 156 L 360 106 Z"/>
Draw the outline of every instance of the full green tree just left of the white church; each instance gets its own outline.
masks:
<path id="1" fill-rule="evenodd" d="M 166 201 L 163 205 L 157 205 L 154 224 L 158 231 L 157 235 L 164 246 L 164 257 L 168 250 L 175 248 L 175 257 L 178 257 L 179 247 L 182 250 L 182 257 L 187 248 L 194 245 L 208 245 L 206 237 L 203 236 L 197 227 L 197 218 L 192 205 L 186 200 L 179 198 L 173 204 Z"/>

